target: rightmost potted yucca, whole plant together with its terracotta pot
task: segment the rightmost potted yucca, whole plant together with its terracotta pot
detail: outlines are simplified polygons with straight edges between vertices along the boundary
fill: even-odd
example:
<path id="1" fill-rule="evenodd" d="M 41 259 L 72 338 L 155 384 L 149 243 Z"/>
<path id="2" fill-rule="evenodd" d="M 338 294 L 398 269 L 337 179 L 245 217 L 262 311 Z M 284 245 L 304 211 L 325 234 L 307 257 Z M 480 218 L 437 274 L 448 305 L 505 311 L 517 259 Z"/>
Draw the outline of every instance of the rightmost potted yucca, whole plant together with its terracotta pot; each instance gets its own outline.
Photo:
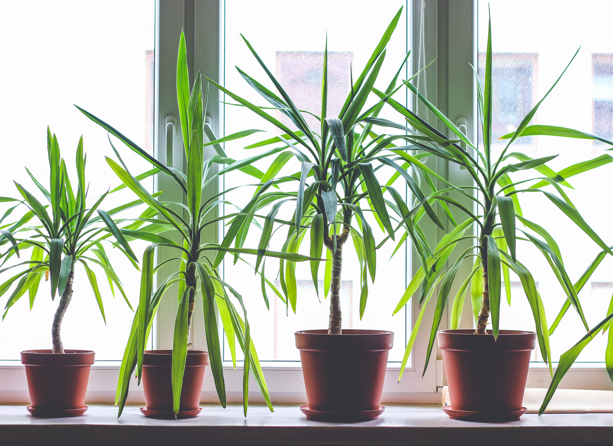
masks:
<path id="1" fill-rule="evenodd" d="M 568 66 L 566 69 L 568 69 Z M 564 72 L 562 72 L 563 74 Z M 562 75 L 560 75 L 560 78 Z M 609 144 L 613 143 L 594 135 L 564 127 L 528 126 L 530 120 L 535 116 L 539 105 L 541 105 L 545 97 L 547 97 L 560 80 L 558 78 L 543 99 L 539 100 L 530 113 L 522 119 L 517 130 L 512 134 L 502 137 L 502 139 L 509 140 L 508 144 L 498 156 L 495 156 L 492 148 L 491 23 L 485 55 L 485 78 L 483 85 L 481 85 L 476 72 L 475 78 L 478 86 L 479 118 L 481 118 L 482 124 L 482 146 L 468 140 L 413 85 L 407 84 L 413 94 L 416 94 L 419 100 L 447 127 L 452 137 L 456 138 L 455 142 L 441 132 L 438 132 L 435 127 L 425 122 L 424 119 L 421 119 L 413 111 L 402 107 L 402 105 L 392 99 L 387 100 L 388 104 L 399 111 L 413 129 L 427 138 L 427 143 L 416 142 L 420 149 L 425 153 L 460 165 L 470 173 L 474 180 L 474 186 L 459 187 L 437 176 L 436 178 L 446 183 L 447 187 L 443 190 L 433 191 L 430 197 L 428 197 L 428 200 L 436 200 L 454 206 L 468 218 L 460 223 L 452 220 L 453 227 L 442 238 L 436 248 L 432 250 L 433 255 L 424 256 L 422 261 L 425 262 L 427 267 L 422 267 L 417 271 L 395 309 L 395 312 L 400 310 L 419 289 L 419 293 L 416 294 L 415 298 L 419 299 L 421 311 L 406 346 L 400 376 L 402 377 L 402 371 L 413 348 L 417 330 L 419 330 L 422 317 L 433 295 L 436 284 L 440 282 L 440 291 L 435 299 L 434 319 L 430 330 L 425 368 L 427 368 L 428 359 L 437 337 L 437 330 L 443 318 L 444 309 L 449 301 L 449 294 L 452 284 L 457 278 L 459 267 L 465 261 L 474 262 L 470 273 L 461 278 L 461 285 L 451 305 L 452 330 L 438 331 L 438 346 L 443 350 L 444 369 L 451 399 L 451 407 L 443 407 L 443 410 L 452 418 L 504 420 L 519 418 L 525 412 L 525 408 L 522 408 L 522 398 L 527 379 L 530 350 L 535 347 L 536 340 L 538 340 L 541 355 L 549 364 L 551 371 L 552 358 L 549 347 L 549 335 L 552 333 L 553 328 L 555 328 L 554 326 L 550 330 L 547 326 L 543 301 L 536 289 L 535 280 L 528 268 L 519 261 L 516 249 L 517 240 L 531 243 L 543 253 L 547 263 L 549 263 L 555 276 L 558 278 L 562 289 L 568 296 L 568 305 L 565 306 L 565 309 L 572 304 L 581 317 L 585 329 L 588 333 L 590 332 L 577 293 L 593 270 L 586 271 L 577 284 L 573 285 L 560 260 L 560 252 L 555 240 L 546 229 L 522 214 L 519 197 L 533 192 L 544 195 L 563 214 L 568 216 L 576 224 L 577 228 L 583 230 L 603 249 L 603 257 L 606 253 L 613 254 L 607 244 L 601 240 L 600 236 L 596 235 L 587 222 L 584 221 L 562 189 L 562 186 L 569 186 L 566 181 L 568 176 L 576 175 L 577 173 L 585 172 L 586 170 L 611 162 L 611 156 L 603 155 L 596 159 L 573 165 L 563 170 L 565 175 L 560 175 L 547 166 L 547 162 L 554 159 L 555 156 L 532 159 L 522 153 L 509 152 L 509 146 L 518 137 L 525 135 L 554 135 L 559 137 L 598 139 Z M 380 91 L 375 91 L 375 93 L 379 97 L 386 96 Z M 460 146 L 460 142 L 465 143 L 467 149 L 463 149 Z M 421 167 L 422 173 L 427 172 L 421 161 L 415 159 L 414 156 L 400 152 L 398 152 L 398 155 L 405 159 L 405 161 Z M 512 180 L 511 177 L 514 172 L 527 170 L 533 170 L 535 176 L 526 180 L 524 174 L 521 180 Z M 430 172 L 429 175 L 435 175 L 435 173 Z M 547 191 L 544 189 L 544 186 L 554 187 L 559 195 Z M 478 192 L 478 196 L 471 193 L 473 190 Z M 447 195 L 449 193 L 455 194 L 455 196 Z M 463 205 L 457 200 L 457 197 L 468 198 L 473 203 L 473 206 Z M 473 211 L 471 209 L 473 207 L 477 211 Z M 478 235 L 471 233 L 474 224 L 478 226 Z M 463 240 L 472 240 L 472 243 L 468 248 L 463 247 L 460 249 L 458 254 L 457 251 L 454 251 L 454 248 Z M 448 260 L 451 263 L 450 266 L 446 264 Z M 504 288 L 510 303 L 509 271 L 513 271 L 520 278 L 535 321 L 536 333 L 499 330 L 501 282 L 503 278 Z M 468 287 L 471 289 L 471 304 L 476 320 L 476 328 L 475 330 L 457 330 Z M 492 330 L 486 330 L 490 317 Z M 596 331 L 602 328 L 606 321 L 598 325 Z M 557 325 L 557 322 L 559 320 L 554 325 Z M 574 358 L 576 358 L 576 355 Z"/>

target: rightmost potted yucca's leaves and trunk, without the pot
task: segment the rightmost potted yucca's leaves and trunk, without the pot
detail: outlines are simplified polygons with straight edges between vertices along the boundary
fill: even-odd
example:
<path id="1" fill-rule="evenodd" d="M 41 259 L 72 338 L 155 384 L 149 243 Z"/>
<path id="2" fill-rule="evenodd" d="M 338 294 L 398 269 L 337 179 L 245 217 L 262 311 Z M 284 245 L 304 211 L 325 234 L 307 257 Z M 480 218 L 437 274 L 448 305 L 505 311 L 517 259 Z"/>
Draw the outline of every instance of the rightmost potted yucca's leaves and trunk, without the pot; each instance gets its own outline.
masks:
<path id="1" fill-rule="evenodd" d="M 575 56 L 576 53 L 573 59 Z M 568 66 L 573 62 L 573 59 L 571 59 Z M 590 228 L 587 222 L 585 222 L 581 214 L 579 214 L 579 211 L 577 211 L 571 200 L 565 194 L 563 187 L 570 187 L 568 181 L 566 181 L 569 177 L 607 164 L 613 161 L 613 158 L 609 155 L 603 155 L 589 161 L 571 165 L 560 172 L 555 172 L 552 168 L 547 166 L 547 163 L 554 159 L 555 156 L 532 159 L 523 153 L 509 151 L 511 144 L 515 142 L 517 138 L 531 135 L 584 138 L 600 140 L 613 145 L 613 143 L 608 140 L 596 137 L 595 135 L 579 132 L 578 130 L 556 126 L 528 125 L 533 116 L 535 116 L 539 106 L 543 103 L 543 100 L 549 95 L 562 75 L 566 72 L 568 66 L 566 66 L 565 70 L 544 97 L 539 100 L 535 107 L 533 107 L 522 119 L 515 132 L 501 137 L 503 140 L 508 140 L 508 143 L 498 156 L 495 156 L 492 148 L 493 93 L 491 22 L 487 40 L 487 51 L 485 53 L 485 78 L 483 83 L 479 80 L 478 72 L 474 72 L 478 91 L 479 118 L 482 126 L 482 145 L 471 142 L 466 138 L 440 110 L 429 102 L 411 84 L 407 84 L 407 87 L 418 97 L 418 100 L 425 104 L 425 106 L 434 113 L 436 118 L 447 127 L 449 134 L 452 135 L 455 140 L 450 140 L 446 135 L 436 130 L 434 126 L 428 124 L 424 119 L 417 116 L 416 113 L 413 113 L 413 111 L 408 110 L 392 99 L 387 99 L 388 104 L 397 110 L 414 130 L 428 138 L 427 143 L 416 143 L 420 149 L 425 153 L 460 165 L 460 167 L 466 169 L 466 172 L 470 174 L 474 181 L 472 186 L 455 186 L 449 183 L 449 181 L 444 180 L 444 178 L 437 176 L 436 178 L 446 183 L 447 187 L 433 192 L 430 194 L 430 197 L 428 197 L 428 200 L 436 200 L 454 206 L 462 214 L 465 214 L 467 218 L 465 221 L 459 223 L 451 219 L 452 229 L 442 238 L 436 248 L 432 250 L 433 255 L 423 259 L 427 264 L 427 268 L 422 267 L 417 271 L 394 311 L 397 312 L 403 308 L 411 296 L 419 290 L 417 298 L 419 298 L 421 311 L 419 312 L 419 316 L 417 316 L 413 333 L 406 346 L 405 358 L 402 363 L 400 376 L 402 376 L 402 370 L 406 365 L 409 353 L 411 349 L 413 349 L 416 333 L 421 325 L 428 301 L 432 297 L 436 284 L 440 282 L 440 291 L 436 297 L 434 319 L 430 330 L 430 340 L 424 366 L 425 372 L 425 368 L 428 366 L 430 352 L 432 352 L 432 347 L 435 342 L 436 331 L 438 330 L 444 309 L 449 300 L 452 284 L 456 279 L 460 265 L 465 261 L 473 263 L 473 268 L 468 276 L 461 278 L 461 285 L 451 306 L 451 328 L 456 329 L 459 326 L 466 291 L 470 287 L 471 304 L 476 323 L 475 333 L 485 334 L 485 327 L 491 318 L 492 335 L 496 338 L 499 333 L 500 324 L 501 283 L 504 281 L 506 297 L 510 303 L 511 284 L 509 280 L 509 271 L 514 271 L 520 278 L 525 296 L 530 304 L 532 315 L 535 320 L 536 335 L 541 355 L 544 360 L 549 363 L 550 371 L 552 369 L 552 358 L 549 347 L 549 336 L 554 332 L 555 327 L 557 327 L 560 319 L 570 305 L 573 306 L 581 317 L 588 335 L 589 333 L 595 333 L 595 331 L 600 330 L 600 328 L 611 318 L 611 316 L 607 317 L 598 327 L 590 330 L 585 320 L 577 293 L 581 290 L 590 274 L 592 274 L 595 266 L 592 265 L 593 268 L 590 266 L 585 274 L 573 284 L 565 270 L 565 266 L 562 262 L 562 255 L 560 254 L 560 250 L 554 238 L 546 229 L 536 222 L 531 221 L 528 219 L 528 216 L 522 213 L 519 197 L 528 193 L 536 193 L 543 195 L 550 200 L 550 202 L 554 203 L 563 214 L 574 222 L 577 229 L 585 232 L 603 249 L 600 257 L 596 259 L 602 260 L 604 255 L 607 253 L 613 254 L 613 252 L 600 236 Z M 386 96 L 382 92 L 376 91 L 376 93 L 379 97 Z M 466 149 L 462 148 L 462 143 L 466 145 Z M 419 166 L 419 162 L 412 161 L 412 163 Z M 525 179 L 525 175 L 523 175 L 522 180 L 512 180 L 511 176 L 514 172 L 529 170 L 533 171 L 535 174 L 531 178 Z M 425 172 L 425 169 L 422 168 L 421 172 Z M 433 172 L 430 173 L 430 175 L 433 175 Z M 558 194 L 547 191 L 545 189 L 546 186 L 551 186 Z M 455 194 L 455 197 L 453 194 Z M 463 205 L 457 200 L 457 197 L 470 199 L 473 206 Z M 476 209 L 476 211 L 473 209 Z M 477 235 L 473 235 L 472 232 L 474 224 L 478 227 Z M 473 243 L 468 249 L 463 249 L 463 251 L 457 255 L 454 248 L 463 240 L 471 240 Z M 547 263 L 550 268 L 552 268 L 562 289 L 568 297 L 560 315 L 551 327 L 547 325 L 543 301 L 536 290 L 533 275 L 528 268 L 518 260 L 518 257 L 520 257 L 517 253 L 518 249 L 516 248 L 518 240 L 532 244 L 543 253 Z M 455 255 L 457 255 L 457 257 L 455 257 Z M 598 262 L 600 262 L 600 260 L 598 260 Z M 446 266 L 447 261 L 451 263 L 451 266 Z M 574 358 L 576 358 L 576 355 Z M 558 372 L 560 372 L 560 370 L 561 369 L 558 368 Z M 566 368 L 566 370 L 568 370 L 568 368 Z M 559 382 L 558 372 L 556 380 Z M 560 374 L 563 375 L 563 372 Z M 547 401 L 549 401 L 551 394 L 552 391 L 550 389 L 550 393 L 547 395 L 543 407 L 541 407 L 541 413 Z"/>

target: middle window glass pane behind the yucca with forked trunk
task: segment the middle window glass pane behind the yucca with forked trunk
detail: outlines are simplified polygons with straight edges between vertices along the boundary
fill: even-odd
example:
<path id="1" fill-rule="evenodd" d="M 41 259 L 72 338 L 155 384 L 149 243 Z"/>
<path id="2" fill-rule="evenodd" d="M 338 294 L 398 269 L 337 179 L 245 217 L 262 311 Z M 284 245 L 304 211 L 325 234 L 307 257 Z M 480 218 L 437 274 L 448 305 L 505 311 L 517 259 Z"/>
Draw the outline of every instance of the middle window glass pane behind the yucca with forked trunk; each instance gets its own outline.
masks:
<path id="1" fill-rule="evenodd" d="M 244 97 L 256 105 L 270 105 L 264 98 L 251 88 L 235 69 L 238 66 L 246 74 L 274 90 L 264 70 L 249 52 L 239 33 L 253 45 L 267 67 L 275 74 L 283 88 L 301 110 L 321 114 L 321 81 L 326 47 L 328 41 L 328 116 L 338 116 L 346 97 L 351 92 L 351 76 L 354 80 L 359 76 L 368 58 L 383 36 L 387 25 L 398 9 L 403 6 L 403 16 L 400 18 L 394 36 L 387 45 L 386 59 L 379 74 L 375 87 L 386 89 L 402 64 L 409 48 L 406 1 L 386 1 L 372 7 L 367 1 L 311 1 L 287 2 L 281 0 L 265 0 L 259 2 L 245 0 L 226 0 L 225 2 L 225 34 L 224 34 L 224 83 L 233 93 Z M 266 25 L 253 17 L 266 14 Z M 289 18 L 289 19 L 288 19 Z M 407 78 L 408 71 L 403 69 L 401 79 Z M 396 97 L 406 103 L 405 92 Z M 234 102 L 226 97 L 227 102 Z M 370 98 L 370 104 L 375 104 L 375 97 Z M 264 119 L 257 118 L 253 112 L 242 107 L 224 104 L 223 116 L 225 135 L 245 129 L 263 129 L 278 134 L 278 129 L 268 124 Z M 391 110 L 391 109 L 390 109 Z M 295 129 L 295 126 L 278 111 L 275 114 L 282 123 Z M 382 118 L 397 119 L 393 111 L 385 108 L 379 115 Z M 307 123 L 312 128 L 319 128 L 319 121 L 307 115 Z M 318 130 L 319 133 L 319 130 Z M 261 153 L 262 148 L 243 149 L 249 143 L 255 143 L 272 134 L 255 134 L 249 139 L 238 143 L 226 143 L 228 156 L 234 159 L 253 156 Z M 270 149 L 275 146 L 268 146 Z M 268 164 L 267 164 L 268 163 Z M 254 166 L 266 170 L 270 160 L 264 163 L 254 163 Z M 281 170 L 280 175 L 293 175 L 300 172 L 300 163 L 292 158 Z M 381 178 L 392 172 L 387 170 Z M 224 188 L 239 184 L 256 183 L 253 177 L 243 173 L 232 172 L 225 177 Z M 402 181 L 394 184 L 397 190 L 405 193 Z M 295 187 L 295 186 L 289 186 Z M 243 187 L 226 195 L 226 199 L 238 206 L 244 206 L 252 196 L 254 187 Z M 292 207 L 293 206 L 293 207 Z M 289 220 L 295 209 L 295 203 L 289 202 L 281 208 L 278 219 Z M 270 206 L 263 208 L 259 214 L 266 215 Z M 235 208 L 226 205 L 226 214 L 235 212 Z M 370 217 L 369 221 L 370 221 Z M 257 219 L 259 224 L 263 219 Z M 354 219 L 354 224 L 356 224 Z M 375 219 L 370 225 L 375 232 L 377 242 L 383 240 L 384 233 L 379 229 Z M 273 236 L 269 249 L 280 251 L 286 237 L 287 227 L 279 230 Z M 245 247 L 256 248 L 259 242 L 259 232 L 253 230 L 247 235 Z M 398 241 L 398 240 L 397 240 Z M 368 279 L 368 301 L 364 318 L 360 320 L 360 268 L 353 243 L 348 241 L 343 248 L 343 271 L 341 274 L 341 306 L 343 311 L 343 328 L 384 329 L 395 332 L 394 349 L 390 351 L 391 361 L 402 361 L 406 342 L 406 320 L 411 320 L 410 310 L 400 311 L 392 317 L 392 311 L 406 288 L 406 271 L 410 271 L 410 261 L 407 259 L 408 248 L 401 245 L 392 260 L 397 241 L 386 243 L 378 250 L 377 273 L 375 284 Z M 308 236 L 303 242 L 300 252 L 308 254 Z M 325 249 L 325 248 L 324 248 Z M 325 252 L 325 251 L 324 251 Z M 251 256 L 245 256 L 247 262 L 254 262 Z M 254 263 L 251 263 L 252 265 Z M 276 277 L 278 260 L 267 260 L 265 275 L 277 287 L 280 282 Z M 232 265 L 232 258 L 227 255 L 224 265 L 227 281 L 243 294 L 248 307 L 251 333 L 256 343 L 259 358 L 262 361 L 297 361 L 299 351 L 294 344 L 294 331 L 317 328 L 327 328 L 329 301 L 324 299 L 323 276 L 324 264 L 319 268 L 319 300 L 314 290 L 311 271 L 308 262 L 297 264 L 298 300 L 296 313 L 286 308 L 286 304 L 267 289 L 270 300 L 270 310 L 264 304 L 261 292 L 260 276 L 254 276 L 251 266 L 238 261 Z M 240 278 L 240 279 L 237 279 Z M 321 300 L 321 301 L 320 301 Z M 224 350 L 224 359 L 230 360 L 229 352 Z"/>

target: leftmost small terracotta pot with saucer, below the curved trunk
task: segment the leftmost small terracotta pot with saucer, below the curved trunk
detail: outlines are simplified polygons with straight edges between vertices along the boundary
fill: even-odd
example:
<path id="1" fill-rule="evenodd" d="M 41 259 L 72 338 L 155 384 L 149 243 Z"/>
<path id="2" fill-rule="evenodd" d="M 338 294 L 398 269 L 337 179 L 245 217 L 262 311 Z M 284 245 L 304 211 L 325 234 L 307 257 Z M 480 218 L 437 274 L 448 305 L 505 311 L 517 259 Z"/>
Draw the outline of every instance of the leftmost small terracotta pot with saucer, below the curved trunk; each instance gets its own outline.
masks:
<path id="1" fill-rule="evenodd" d="M 37 417 L 75 417 L 83 415 L 89 369 L 96 353 L 91 350 L 25 350 L 21 363 L 26 366 L 31 406 Z"/>

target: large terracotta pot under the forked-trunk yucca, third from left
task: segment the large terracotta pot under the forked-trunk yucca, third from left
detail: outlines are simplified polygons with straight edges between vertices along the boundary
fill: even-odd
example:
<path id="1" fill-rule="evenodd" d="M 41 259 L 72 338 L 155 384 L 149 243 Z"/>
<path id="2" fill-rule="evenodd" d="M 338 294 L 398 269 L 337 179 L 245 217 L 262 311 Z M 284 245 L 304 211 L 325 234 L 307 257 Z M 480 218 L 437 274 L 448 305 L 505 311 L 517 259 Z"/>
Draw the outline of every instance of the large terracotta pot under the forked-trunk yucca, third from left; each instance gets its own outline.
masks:
<path id="1" fill-rule="evenodd" d="M 308 407 L 301 410 L 319 420 L 372 420 L 381 407 L 387 353 L 394 333 L 380 330 L 295 332 Z"/>

